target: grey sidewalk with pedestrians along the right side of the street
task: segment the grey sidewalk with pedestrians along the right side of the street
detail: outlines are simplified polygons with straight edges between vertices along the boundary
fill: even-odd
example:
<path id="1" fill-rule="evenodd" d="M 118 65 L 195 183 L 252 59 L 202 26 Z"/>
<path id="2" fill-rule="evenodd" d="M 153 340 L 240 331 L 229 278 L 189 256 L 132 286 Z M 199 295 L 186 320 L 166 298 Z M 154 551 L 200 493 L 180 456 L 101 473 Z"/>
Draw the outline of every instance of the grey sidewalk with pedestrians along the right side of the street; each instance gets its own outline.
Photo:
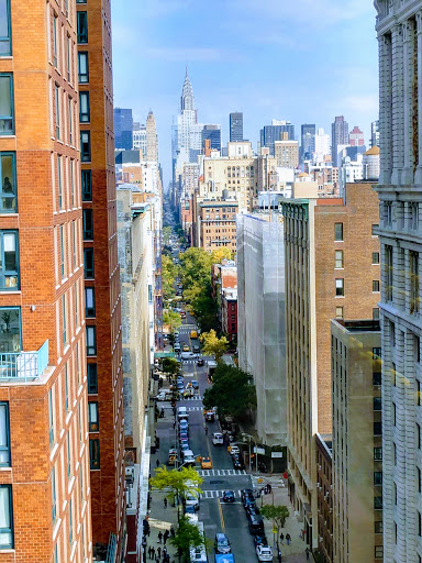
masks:
<path id="1" fill-rule="evenodd" d="M 258 481 L 262 479 L 262 483 Z M 259 490 L 266 484 L 271 485 L 273 493 L 268 495 L 264 495 L 260 498 L 256 499 L 256 506 L 259 508 L 262 503 L 264 505 L 271 505 L 273 499 L 275 505 L 285 505 L 289 509 L 289 517 L 286 520 L 285 527 L 280 530 L 280 532 L 285 536 L 284 544 L 281 545 L 280 538 L 275 538 L 273 533 L 273 522 L 264 519 L 265 526 L 265 534 L 268 540 L 268 544 L 273 548 L 274 540 L 279 541 L 279 547 L 281 551 L 282 561 L 287 563 L 302 563 L 307 561 L 306 549 L 307 544 L 301 539 L 301 530 L 303 526 L 298 519 L 295 517 L 295 509 L 290 503 L 288 489 L 285 485 L 285 481 L 281 475 L 252 475 L 252 481 L 254 484 L 254 488 Z M 286 534 L 289 533 L 291 541 L 290 545 L 286 543 Z M 274 550 L 275 561 L 277 561 L 277 547 Z M 310 555 L 310 560 L 312 561 L 312 556 Z"/>

